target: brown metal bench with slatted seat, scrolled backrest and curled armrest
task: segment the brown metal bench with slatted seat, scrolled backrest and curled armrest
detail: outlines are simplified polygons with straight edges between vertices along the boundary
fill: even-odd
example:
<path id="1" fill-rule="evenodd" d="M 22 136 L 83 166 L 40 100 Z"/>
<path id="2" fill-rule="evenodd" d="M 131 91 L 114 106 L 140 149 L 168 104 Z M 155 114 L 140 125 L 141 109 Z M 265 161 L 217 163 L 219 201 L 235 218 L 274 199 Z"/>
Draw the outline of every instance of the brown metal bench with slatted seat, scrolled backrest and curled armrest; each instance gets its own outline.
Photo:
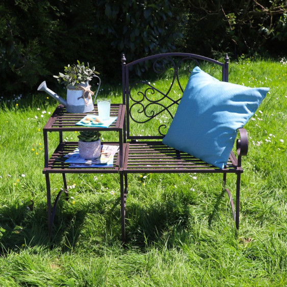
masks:
<path id="1" fill-rule="evenodd" d="M 241 156 L 247 154 L 248 140 L 244 128 L 239 129 L 237 156 L 231 152 L 227 165 L 217 168 L 194 156 L 162 143 L 180 102 L 188 77 L 194 66 L 216 71 L 215 75 L 228 82 L 228 56 L 225 63 L 210 58 L 169 53 L 126 63 L 122 55 L 123 103 L 126 105 L 124 125 L 124 160 L 121 173 L 122 238 L 125 241 L 125 204 L 129 173 L 222 173 L 223 190 L 230 199 L 233 219 L 239 228 L 240 181 L 243 169 Z M 210 64 L 205 64 L 210 63 Z M 143 65 L 145 64 L 145 65 Z M 144 72 L 146 67 L 150 67 Z M 157 75 L 156 78 L 154 74 Z M 161 84 L 161 90 L 158 83 Z M 162 90 L 163 89 L 163 90 Z M 225 187 L 227 173 L 236 176 L 236 206 Z"/>

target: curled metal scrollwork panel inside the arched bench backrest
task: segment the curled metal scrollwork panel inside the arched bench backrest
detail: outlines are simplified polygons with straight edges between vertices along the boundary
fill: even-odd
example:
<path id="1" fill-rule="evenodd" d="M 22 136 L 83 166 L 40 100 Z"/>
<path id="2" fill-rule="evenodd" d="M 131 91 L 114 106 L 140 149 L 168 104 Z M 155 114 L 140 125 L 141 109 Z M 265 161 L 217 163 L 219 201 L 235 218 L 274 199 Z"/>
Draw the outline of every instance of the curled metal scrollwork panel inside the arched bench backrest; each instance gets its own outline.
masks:
<path id="1" fill-rule="evenodd" d="M 198 59 L 204 58 L 199 56 L 197 59 L 189 56 L 192 54 L 171 54 L 155 55 L 143 59 L 152 61 L 149 66 L 152 67 L 153 74 L 157 75 L 156 80 L 151 77 L 153 80 L 150 81 L 141 78 L 132 81 L 131 79 L 134 78 L 129 74 L 131 72 L 127 67 L 125 82 L 127 138 L 160 139 L 165 136 L 192 69 L 199 66 Z M 141 60 L 135 61 L 131 63 L 131 67 L 141 63 Z M 140 130 L 137 129 L 139 123 L 144 126 Z M 142 135 L 141 131 L 147 134 Z"/>

